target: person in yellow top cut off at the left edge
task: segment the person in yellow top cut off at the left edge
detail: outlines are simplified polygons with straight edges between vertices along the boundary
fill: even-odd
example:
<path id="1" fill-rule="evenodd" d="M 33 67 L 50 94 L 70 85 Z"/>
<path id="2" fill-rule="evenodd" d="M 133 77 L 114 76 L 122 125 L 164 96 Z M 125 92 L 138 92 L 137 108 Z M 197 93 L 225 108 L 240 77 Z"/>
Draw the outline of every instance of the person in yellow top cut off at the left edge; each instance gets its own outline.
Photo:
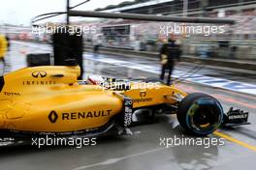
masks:
<path id="1" fill-rule="evenodd" d="M 4 74 L 5 69 L 5 55 L 8 50 L 8 41 L 5 36 L 0 35 L 0 63 L 2 65 L 0 69 L 0 75 Z"/>

